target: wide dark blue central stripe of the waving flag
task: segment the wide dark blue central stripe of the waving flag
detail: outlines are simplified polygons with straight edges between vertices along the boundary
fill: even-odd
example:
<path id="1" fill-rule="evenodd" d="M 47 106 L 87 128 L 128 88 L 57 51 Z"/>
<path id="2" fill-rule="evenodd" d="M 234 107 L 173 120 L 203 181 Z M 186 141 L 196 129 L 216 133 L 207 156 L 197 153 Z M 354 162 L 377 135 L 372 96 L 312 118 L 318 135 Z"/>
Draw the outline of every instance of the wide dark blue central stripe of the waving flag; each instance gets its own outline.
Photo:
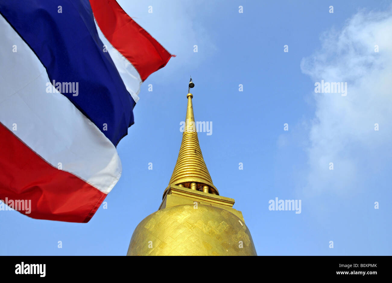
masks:
<path id="1" fill-rule="evenodd" d="M 60 92 L 117 145 L 134 123 L 135 102 L 103 52 L 89 1 L 0 0 L 0 13 L 38 56 L 51 82 L 74 83 L 74 90 L 78 83 L 77 96 Z"/>

